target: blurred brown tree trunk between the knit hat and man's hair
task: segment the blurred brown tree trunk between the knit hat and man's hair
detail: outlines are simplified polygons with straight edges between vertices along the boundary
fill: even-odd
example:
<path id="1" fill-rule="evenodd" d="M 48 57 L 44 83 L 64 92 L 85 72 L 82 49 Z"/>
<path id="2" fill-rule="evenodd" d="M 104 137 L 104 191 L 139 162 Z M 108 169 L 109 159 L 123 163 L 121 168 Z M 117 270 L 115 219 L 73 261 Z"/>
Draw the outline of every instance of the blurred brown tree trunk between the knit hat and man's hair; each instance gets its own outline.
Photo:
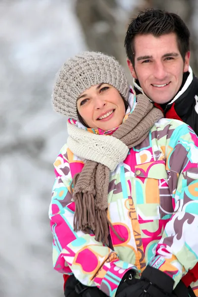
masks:
<path id="1" fill-rule="evenodd" d="M 77 0 L 76 14 L 89 50 L 113 55 L 126 69 L 124 38 L 128 15 L 116 0 Z"/>

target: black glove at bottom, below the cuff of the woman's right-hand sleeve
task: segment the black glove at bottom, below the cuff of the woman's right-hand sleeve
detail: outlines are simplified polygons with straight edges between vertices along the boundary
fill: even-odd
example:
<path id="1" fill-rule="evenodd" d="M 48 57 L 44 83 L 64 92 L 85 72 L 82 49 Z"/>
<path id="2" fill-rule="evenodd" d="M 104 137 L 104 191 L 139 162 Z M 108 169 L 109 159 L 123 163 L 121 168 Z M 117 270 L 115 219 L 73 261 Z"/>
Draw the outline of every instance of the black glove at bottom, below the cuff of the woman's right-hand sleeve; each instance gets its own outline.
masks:
<path id="1" fill-rule="evenodd" d="M 173 297 L 173 285 L 170 276 L 147 266 L 140 281 L 126 287 L 117 297 Z"/>

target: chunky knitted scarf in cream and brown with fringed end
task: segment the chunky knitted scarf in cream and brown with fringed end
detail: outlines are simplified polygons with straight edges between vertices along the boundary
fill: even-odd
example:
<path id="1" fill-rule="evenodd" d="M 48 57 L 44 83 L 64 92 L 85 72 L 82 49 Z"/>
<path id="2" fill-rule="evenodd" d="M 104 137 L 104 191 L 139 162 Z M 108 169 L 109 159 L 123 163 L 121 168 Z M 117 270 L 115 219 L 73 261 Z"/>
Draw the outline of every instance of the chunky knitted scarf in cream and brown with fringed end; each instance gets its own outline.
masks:
<path id="1" fill-rule="evenodd" d="M 87 161 L 73 178 L 75 201 L 74 230 L 95 233 L 97 241 L 108 245 L 107 217 L 109 173 L 127 156 L 130 148 L 141 144 L 162 112 L 145 95 L 137 96 L 137 105 L 113 136 L 96 135 L 68 124 L 68 148 Z M 72 127 L 73 126 L 73 127 Z"/>

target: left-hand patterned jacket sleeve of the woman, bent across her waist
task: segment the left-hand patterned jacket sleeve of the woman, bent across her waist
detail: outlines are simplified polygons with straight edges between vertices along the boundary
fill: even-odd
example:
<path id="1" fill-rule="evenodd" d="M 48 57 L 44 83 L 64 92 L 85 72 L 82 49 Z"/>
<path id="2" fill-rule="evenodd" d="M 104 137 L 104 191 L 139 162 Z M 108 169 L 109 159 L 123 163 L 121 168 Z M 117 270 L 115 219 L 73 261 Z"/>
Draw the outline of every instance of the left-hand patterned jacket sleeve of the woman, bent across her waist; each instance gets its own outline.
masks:
<path id="1" fill-rule="evenodd" d="M 106 295 L 114 296 L 124 274 L 136 267 L 127 263 L 122 265 L 116 252 L 97 242 L 94 234 L 74 231 L 75 202 L 72 201 L 70 184 L 75 161 L 71 164 L 69 157 L 70 152 L 62 152 L 54 163 L 56 179 L 49 207 L 53 266 L 58 272 L 73 273 L 84 285 L 97 286 Z M 79 164 L 78 169 L 82 168 Z M 125 268 L 120 268 L 122 266 Z"/>

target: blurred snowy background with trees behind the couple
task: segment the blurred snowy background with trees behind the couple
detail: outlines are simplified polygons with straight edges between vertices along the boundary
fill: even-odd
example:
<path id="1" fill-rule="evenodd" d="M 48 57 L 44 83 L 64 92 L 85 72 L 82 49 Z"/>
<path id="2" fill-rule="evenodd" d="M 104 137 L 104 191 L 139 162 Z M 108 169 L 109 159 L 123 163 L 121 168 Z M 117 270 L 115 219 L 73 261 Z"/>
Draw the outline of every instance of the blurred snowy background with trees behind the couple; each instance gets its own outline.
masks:
<path id="1" fill-rule="evenodd" d="M 155 7 L 185 19 L 198 73 L 198 1 L 163 2 L 0 0 L 0 297 L 63 297 L 48 219 L 52 163 L 67 139 L 66 118 L 50 101 L 61 64 L 92 49 L 116 56 L 126 68 L 130 18 Z"/>

